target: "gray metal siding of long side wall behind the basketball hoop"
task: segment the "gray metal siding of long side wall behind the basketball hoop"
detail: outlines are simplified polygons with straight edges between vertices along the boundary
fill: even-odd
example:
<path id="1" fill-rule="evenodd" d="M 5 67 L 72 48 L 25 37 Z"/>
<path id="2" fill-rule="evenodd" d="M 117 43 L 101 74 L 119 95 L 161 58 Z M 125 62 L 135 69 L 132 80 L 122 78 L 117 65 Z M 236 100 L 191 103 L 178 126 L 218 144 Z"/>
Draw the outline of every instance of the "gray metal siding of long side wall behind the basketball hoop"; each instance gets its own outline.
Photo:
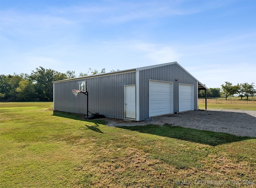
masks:
<path id="1" fill-rule="evenodd" d="M 136 84 L 136 72 L 56 82 L 54 110 L 86 114 L 87 96 L 72 94 L 79 81 L 87 81 L 90 112 L 124 119 L 124 85 Z"/>

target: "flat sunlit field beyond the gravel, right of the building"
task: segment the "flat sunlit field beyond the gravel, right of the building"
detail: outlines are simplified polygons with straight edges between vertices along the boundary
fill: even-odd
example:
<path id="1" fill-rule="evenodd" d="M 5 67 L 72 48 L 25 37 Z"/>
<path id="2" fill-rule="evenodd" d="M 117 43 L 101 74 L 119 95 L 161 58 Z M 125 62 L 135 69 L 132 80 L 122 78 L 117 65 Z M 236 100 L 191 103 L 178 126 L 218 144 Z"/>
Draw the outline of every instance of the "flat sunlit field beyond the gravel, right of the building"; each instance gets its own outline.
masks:
<path id="1" fill-rule="evenodd" d="M 205 109 L 205 99 L 198 99 L 199 109 Z M 240 109 L 240 110 L 256 110 L 256 97 L 249 97 L 248 100 L 239 97 L 228 97 L 207 99 L 208 109 Z"/>

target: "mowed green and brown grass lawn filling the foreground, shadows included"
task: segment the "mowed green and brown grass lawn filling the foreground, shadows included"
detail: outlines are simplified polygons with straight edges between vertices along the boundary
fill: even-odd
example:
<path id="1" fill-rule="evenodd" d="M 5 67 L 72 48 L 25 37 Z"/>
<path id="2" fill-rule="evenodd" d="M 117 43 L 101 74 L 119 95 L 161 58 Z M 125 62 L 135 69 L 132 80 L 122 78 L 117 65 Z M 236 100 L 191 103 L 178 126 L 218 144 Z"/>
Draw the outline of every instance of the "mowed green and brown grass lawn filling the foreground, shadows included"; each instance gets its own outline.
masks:
<path id="1" fill-rule="evenodd" d="M 107 127 L 50 108 L 0 103 L 0 187 L 256 186 L 255 138 L 172 125 Z"/>

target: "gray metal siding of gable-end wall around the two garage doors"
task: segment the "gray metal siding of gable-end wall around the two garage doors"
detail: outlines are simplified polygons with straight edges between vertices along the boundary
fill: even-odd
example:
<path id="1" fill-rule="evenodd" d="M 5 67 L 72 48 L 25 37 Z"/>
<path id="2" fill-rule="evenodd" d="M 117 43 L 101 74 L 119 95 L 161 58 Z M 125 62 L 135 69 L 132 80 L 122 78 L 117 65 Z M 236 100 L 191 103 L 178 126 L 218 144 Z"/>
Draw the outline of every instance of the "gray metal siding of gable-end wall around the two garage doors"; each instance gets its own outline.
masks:
<path id="1" fill-rule="evenodd" d="M 194 85 L 194 109 L 197 109 L 197 80 L 177 64 L 156 67 L 140 71 L 140 120 L 149 117 L 148 87 L 149 79 L 173 82 L 174 113 L 179 111 L 179 83 Z M 178 81 L 175 81 L 178 79 Z"/>

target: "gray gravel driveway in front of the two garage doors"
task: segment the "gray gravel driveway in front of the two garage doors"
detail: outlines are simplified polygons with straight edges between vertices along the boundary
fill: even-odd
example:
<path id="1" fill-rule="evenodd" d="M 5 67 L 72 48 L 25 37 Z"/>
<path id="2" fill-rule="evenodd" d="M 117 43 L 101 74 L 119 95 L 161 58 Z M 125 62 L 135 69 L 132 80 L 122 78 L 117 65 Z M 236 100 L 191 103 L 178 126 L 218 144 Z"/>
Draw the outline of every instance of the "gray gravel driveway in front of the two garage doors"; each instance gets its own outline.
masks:
<path id="1" fill-rule="evenodd" d="M 135 126 L 171 124 L 199 130 L 230 133 L 238 136 L 256 137 L 256 111 L 208 109 L 152 117 L 146 121 L 127 122 L 107 119 L 108 126 Z"/>

